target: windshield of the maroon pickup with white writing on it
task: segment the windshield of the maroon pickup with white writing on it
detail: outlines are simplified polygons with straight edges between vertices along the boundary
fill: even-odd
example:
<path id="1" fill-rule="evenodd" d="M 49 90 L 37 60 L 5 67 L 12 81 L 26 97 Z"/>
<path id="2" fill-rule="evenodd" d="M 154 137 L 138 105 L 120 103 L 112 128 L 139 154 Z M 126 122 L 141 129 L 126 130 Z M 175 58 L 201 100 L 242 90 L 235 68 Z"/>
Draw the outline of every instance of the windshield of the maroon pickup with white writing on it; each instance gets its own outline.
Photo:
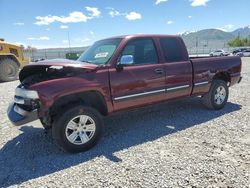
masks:
<path id="1" fill-rule="evenodd" d="M 121 40 L 121 38 L 116 38 L 97 41 L 79 57 L 78 61 L 96 65 L 106 64 L 114 54 Z"/>

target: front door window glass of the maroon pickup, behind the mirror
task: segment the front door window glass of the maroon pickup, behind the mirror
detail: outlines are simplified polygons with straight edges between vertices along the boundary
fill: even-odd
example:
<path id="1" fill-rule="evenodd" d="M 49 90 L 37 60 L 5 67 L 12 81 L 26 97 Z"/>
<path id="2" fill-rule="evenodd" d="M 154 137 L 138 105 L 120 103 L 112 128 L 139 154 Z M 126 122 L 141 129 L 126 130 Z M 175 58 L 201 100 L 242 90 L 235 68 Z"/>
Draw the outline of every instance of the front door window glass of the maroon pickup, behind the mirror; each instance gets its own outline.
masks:
<path id="1" fill-rule="evenodd" d="M 134 57 L 133 65 L 155 64 L 158 62 L 152 39 L 135 39 L 128 42 L 122 55 L 132 55 Z"/>

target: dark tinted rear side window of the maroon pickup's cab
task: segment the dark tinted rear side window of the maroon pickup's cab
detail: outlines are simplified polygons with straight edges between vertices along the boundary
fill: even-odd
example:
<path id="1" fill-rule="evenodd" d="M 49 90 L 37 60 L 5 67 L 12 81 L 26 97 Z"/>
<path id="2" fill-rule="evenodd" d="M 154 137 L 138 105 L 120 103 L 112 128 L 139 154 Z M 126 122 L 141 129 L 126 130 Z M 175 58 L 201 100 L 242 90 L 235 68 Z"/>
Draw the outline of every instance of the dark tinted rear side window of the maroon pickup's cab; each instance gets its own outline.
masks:
<path id="1" fill-rule="evenodd" d="M 161 48 L 164 53 L 166 62 L 185 61 L 185 56 L 182 52 L 182 44 L 176 38 L 160 39 Z"/>

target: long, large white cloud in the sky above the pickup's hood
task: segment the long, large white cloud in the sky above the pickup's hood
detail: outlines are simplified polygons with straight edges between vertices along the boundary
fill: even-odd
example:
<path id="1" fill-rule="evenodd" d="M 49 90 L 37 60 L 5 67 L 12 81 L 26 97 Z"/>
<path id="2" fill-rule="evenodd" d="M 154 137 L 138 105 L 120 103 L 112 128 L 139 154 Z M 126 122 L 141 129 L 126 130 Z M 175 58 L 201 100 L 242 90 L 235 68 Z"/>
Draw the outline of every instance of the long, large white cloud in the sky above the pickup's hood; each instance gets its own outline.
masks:
<path id="1" fill-rule="evenodd" d="M 87 22 L 90 19 L 97 18 L 100 16 L 101 12 L 98 8 L 95 7 L 85 7 L 89 13 L 89 16 L 86 16 L 82 12 L 74 11 L 69 13 L 68 16 L 37 16 L 36 25 L 49 25 L 53 22 L 61 22 L 61 23 L 78 23 L 78 22 Z"/>

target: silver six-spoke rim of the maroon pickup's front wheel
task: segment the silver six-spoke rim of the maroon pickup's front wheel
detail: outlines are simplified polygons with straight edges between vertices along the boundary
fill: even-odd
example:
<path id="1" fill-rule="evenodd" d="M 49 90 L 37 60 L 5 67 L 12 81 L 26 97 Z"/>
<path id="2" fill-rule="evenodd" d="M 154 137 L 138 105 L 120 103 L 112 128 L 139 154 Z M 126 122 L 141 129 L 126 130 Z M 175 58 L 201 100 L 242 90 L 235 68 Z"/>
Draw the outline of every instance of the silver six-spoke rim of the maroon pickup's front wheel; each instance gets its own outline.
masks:
<path id="1" fill-rule="evenodd" d="M 66 126 L 65 134 L 69 142 L 76 145 L 87 143 L 95 134 L 94 120 L 87 115 L 79 115 L 71 119 Z"/>

